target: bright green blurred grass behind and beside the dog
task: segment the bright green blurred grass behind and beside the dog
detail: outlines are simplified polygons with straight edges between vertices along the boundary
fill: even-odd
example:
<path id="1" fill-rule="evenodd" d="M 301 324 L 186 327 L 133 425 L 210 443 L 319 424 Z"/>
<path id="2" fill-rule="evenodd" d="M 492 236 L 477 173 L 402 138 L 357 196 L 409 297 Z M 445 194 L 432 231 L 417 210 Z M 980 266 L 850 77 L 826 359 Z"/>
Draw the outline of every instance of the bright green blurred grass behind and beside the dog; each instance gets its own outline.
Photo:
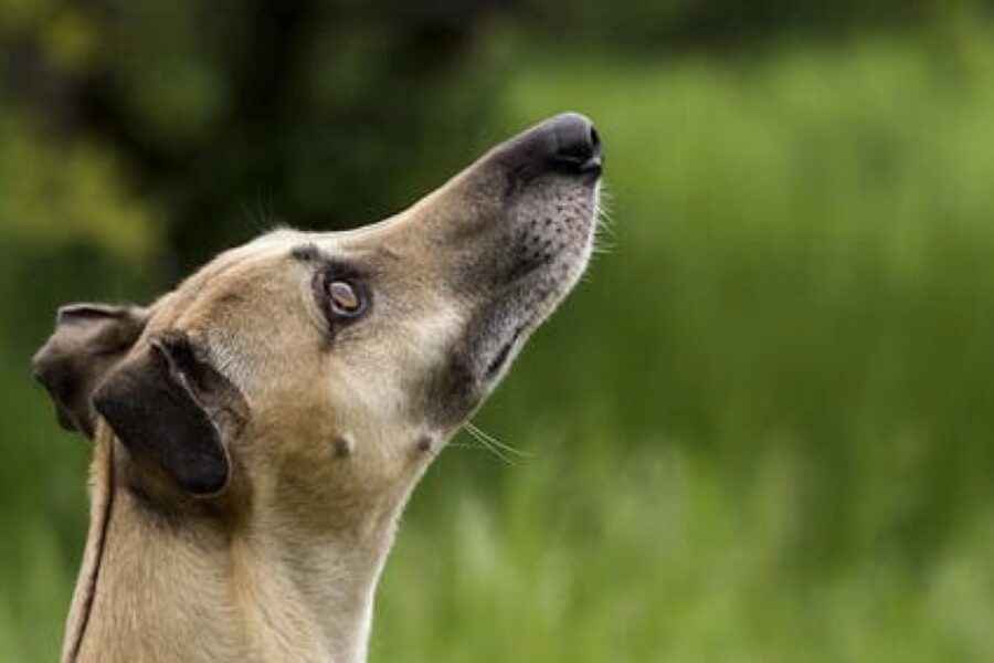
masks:
<path id="1" fill-rule="evenodd" d="M 975 30 L 520 60 L 493 137 L 590 114 L 613 250 L 477 420 L 531 455 L 456 446 L 415 493 L 372 661 L 994 660 L 994 49 Z M 0 661 L 44 661 L 85 454 L 0 366 L 19 431 Z"/>

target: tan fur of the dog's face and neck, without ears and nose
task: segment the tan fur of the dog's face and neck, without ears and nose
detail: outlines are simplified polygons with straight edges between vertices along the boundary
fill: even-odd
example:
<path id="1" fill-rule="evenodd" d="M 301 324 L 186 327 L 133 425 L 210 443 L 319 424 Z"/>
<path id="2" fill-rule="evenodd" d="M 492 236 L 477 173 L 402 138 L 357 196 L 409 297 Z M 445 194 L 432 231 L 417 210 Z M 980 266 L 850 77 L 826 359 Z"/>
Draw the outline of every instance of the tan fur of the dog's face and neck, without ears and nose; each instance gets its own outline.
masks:
<path id="1" fill-rule="evenodd" d="M 516 352 L 590 254 L 596 188 L 557 177 L 508 202 L 504 152 L 494 154 L 382 223 L 281 230 L 228 251 L 149 307 L 121 362 L 163 333 L 202 349 L 240 394 L 231 408 L 241 413 L 213 413 L 231 477 L 216 495 L 184 494 L 97 421 L 63 662 L 366 659 L 403 505 L 499 377 L 473 387 L 455 414 L 432 414 L 440 367 L 474 316 L 498 304 L 522 312 Z M 499 285 L 479 285 L 497 276 L 478 265 L 519 240 L 541 240 L 549 257 L 508 302 Z M 300 246 L 373 283 L 370 315 L 332 340 Z"/>

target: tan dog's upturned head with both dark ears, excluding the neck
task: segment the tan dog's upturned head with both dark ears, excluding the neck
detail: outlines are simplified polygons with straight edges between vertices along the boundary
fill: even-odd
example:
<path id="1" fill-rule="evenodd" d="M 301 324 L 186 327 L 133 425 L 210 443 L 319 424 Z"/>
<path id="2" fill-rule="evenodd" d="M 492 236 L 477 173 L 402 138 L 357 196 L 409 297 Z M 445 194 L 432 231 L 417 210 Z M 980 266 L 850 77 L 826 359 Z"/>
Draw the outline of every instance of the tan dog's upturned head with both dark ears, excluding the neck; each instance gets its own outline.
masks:
<path id="1" fill-rule="evenodd" d="M 272 232 L 147 308 L 64 307 L 35 373 L 134 485 L 340 517 L 408 490 L 575 284 L 601 167 L 591 123 L 554 117 L 380 223 Z"/>

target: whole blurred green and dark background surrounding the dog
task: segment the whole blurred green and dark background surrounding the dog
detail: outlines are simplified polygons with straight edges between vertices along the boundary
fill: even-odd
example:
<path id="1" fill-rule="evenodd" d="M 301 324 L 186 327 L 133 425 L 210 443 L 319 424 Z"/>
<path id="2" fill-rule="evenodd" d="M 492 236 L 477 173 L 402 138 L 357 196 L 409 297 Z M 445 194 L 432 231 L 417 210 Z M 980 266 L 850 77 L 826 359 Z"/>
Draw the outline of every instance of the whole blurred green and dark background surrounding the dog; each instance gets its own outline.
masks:
<path id="1" fill-rule="evenodd" d="M 29 358 L 277 222 L 564 109 L 606 254 L 408 508 L 373 662 L 994 661 L 982 0 L 0 0 L 0 661 L 51 661 L 87 444 Z"/>

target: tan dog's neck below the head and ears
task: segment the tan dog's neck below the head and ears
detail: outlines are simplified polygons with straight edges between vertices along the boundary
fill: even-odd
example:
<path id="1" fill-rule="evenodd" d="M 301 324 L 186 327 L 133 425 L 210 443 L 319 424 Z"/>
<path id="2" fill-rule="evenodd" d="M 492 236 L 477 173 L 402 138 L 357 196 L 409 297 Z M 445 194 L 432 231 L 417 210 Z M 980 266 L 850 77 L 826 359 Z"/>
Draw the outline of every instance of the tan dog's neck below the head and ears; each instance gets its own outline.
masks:
<path id="1" fill-rule="evenodd" d="M 121 480 L 110 449 L 97 441 L 64 662 L 364 661 L 409 487 L 332 530 L 251 508 L 237 523 L 175 517 Z"/>

